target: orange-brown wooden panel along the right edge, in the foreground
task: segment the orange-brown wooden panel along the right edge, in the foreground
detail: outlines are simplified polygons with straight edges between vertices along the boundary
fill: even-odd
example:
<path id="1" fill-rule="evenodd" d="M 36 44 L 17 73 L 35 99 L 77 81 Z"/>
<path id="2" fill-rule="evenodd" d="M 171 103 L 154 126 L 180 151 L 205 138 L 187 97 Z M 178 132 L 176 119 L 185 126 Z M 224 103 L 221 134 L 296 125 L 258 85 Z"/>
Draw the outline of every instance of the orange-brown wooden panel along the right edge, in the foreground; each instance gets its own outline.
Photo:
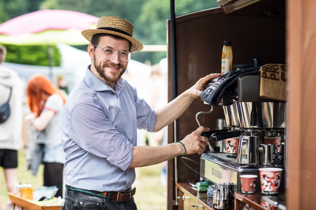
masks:
<path id="1" fill-rule="evenodd" d="M 316 1 L 287 1 L 287 207 L 316 208 Z"/>

